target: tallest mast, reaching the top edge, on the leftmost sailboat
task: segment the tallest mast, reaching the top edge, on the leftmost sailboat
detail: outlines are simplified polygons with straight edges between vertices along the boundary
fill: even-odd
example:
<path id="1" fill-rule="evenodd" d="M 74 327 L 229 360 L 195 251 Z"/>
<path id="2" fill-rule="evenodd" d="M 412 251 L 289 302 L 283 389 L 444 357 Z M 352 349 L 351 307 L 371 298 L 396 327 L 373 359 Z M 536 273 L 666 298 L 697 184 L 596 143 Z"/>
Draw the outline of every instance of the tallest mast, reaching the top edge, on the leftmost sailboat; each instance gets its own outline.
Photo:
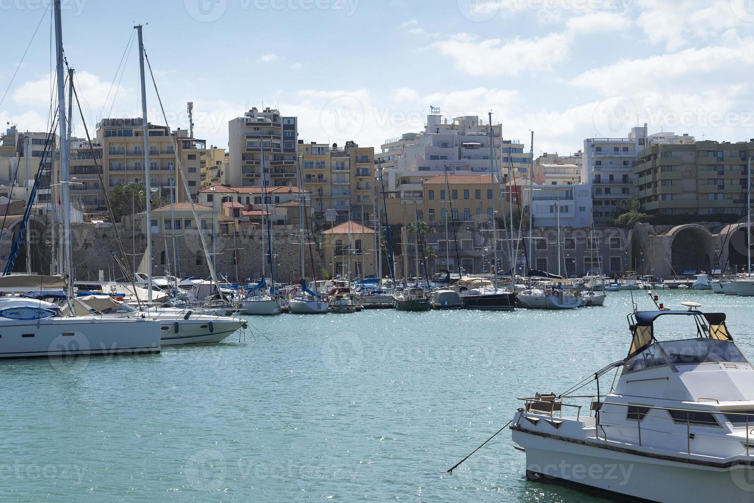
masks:
<path id="1" fill-rule="evenodd" d="M 63 194 L 63 226 L 66 247 L 66 269 L 68 281 L 66 282 L 66 302 L 69 312 L 73 313 L 73 256 L 71 253 L 71 193 L 69 187 L 69 158 L 68 139 L 65 131 L 68 130 L 66 123 L 66 81 L 63 77 L 63 23 L 60 20 L 60 0 L 54 0 L 55 14 L 55 52 L 57 54 L 57 99 L 60 114 L 60 181 Z M 29 153 L 25 152 L 28 156 Z"/>

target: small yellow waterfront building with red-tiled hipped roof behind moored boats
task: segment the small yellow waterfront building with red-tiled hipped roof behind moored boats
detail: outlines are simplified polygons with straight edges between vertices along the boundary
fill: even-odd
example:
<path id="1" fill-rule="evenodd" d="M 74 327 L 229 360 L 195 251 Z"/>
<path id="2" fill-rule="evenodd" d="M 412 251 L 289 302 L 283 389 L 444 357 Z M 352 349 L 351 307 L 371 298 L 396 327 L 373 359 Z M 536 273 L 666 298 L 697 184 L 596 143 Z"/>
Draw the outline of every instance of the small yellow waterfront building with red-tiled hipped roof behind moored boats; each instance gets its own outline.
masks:
<path id="1" fill-rule="evenodd" d="M 324 267 L 330 277 L 354 279 L 376 274 L 375 234 L 372 228 L 350 220 L 323 230 Z"/>

